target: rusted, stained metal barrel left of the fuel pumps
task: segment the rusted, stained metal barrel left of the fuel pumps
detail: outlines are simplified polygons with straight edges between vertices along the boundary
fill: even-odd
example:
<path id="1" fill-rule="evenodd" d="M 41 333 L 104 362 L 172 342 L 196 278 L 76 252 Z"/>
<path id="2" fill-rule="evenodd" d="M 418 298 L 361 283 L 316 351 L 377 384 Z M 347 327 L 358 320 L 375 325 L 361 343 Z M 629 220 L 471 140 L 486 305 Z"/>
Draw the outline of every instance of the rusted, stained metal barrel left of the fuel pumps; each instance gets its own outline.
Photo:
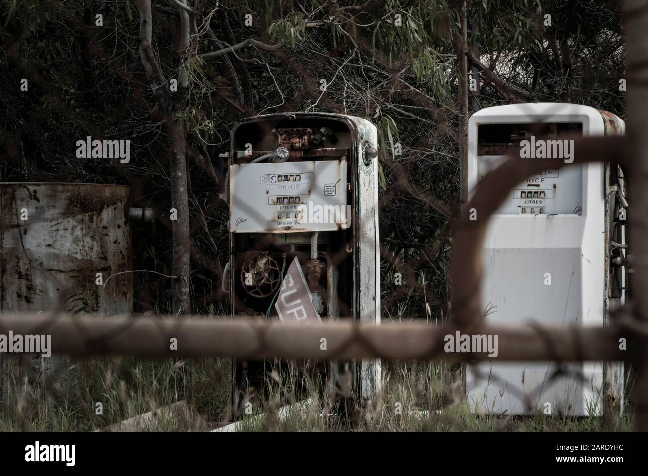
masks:
<path id="1" fill-rule="evenodd" d="M 122 185 L 0 183 L 0 313 L 132 312 L 128 194 Z M 60 357 L 30 360 L 48 376 L 64 371 Z"/>

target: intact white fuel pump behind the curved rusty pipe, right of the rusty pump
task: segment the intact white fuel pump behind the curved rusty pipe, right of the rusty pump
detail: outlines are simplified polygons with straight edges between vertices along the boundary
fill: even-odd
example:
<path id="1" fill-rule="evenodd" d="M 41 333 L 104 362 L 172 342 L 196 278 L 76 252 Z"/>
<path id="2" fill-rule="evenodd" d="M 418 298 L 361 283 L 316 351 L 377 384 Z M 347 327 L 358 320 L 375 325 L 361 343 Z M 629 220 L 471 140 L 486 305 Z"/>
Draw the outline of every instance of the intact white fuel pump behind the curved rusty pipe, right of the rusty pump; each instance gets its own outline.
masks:
<path id="1" fill-rule="evenodd" d="M 538 130 L 542 137 L 536 137 Z M 535 153 L 536 141 L 545 139 L 542 153 L 562 153 L 569 163 L 569 144 L 559 136 L 624 131 L 621 119 L 589 106 L 481 109 L 469 120 L 469 190 L 512 148 Z M 602 163 L 545 170 L 520 183 L 492 217 L 483 242 L 487 322 L 605 325 L 608 311 L 625 295 L 624 191 L 619 168 Z M 469 367 L 467 396 L 473 411 L 601 414 L 604 398 L 623 404 L 622 365 L 606 365 L 605 372 L 603 367 L 586 362 L 556 374 L 559 368 L 550 362 L 485 362 Z"/>

